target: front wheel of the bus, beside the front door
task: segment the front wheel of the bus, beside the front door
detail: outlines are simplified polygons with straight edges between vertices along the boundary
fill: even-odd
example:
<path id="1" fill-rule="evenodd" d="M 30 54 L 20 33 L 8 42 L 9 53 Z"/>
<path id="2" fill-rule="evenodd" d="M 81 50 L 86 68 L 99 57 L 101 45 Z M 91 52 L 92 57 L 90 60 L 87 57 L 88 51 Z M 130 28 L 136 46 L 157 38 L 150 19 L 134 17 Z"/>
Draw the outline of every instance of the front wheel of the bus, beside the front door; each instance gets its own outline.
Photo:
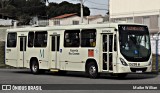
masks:
<path id="1" fill-rule="evenodd" d="M 99 76 L 97 65 L 90 62 L 86 68 L 86 74 L 90 78 L 97 78 Z"/>

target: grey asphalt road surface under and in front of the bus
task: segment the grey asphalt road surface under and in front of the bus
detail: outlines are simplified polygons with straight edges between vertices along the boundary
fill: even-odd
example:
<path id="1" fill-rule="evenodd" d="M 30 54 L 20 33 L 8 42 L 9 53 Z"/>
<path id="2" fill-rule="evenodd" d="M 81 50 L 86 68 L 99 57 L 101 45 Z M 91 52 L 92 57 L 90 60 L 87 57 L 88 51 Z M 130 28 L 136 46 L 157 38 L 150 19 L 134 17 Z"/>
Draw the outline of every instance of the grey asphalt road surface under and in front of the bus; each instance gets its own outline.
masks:
<path id="1" fill-rule="evenodd" d="M 57 75 L 47 72 L 33 75 L 28 69 L 0 69 L 0 84 L 160 84 L 160 75 L 129 74 L 125 79 L 102 74 L 98 79 L 85 77 L 81 72 Z M 122 93 L 158 93 L 158 90 L 121 90 Z M 26 93 L 26 91 L 0 91 L 0 93 Z M 27 91 L 27 93 L 116 93 L 119 90 L 54 90 Z"/>

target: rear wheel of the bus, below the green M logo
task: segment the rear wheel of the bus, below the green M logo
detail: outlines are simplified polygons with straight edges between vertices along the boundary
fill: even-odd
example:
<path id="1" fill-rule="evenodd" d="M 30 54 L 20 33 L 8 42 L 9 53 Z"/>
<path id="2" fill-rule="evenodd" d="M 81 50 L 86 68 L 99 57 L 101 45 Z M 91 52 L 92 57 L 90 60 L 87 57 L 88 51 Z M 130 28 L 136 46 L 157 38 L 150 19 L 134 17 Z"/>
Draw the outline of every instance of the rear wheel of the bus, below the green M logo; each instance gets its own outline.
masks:
<path id="1" fill-rule="evenodd" d="M 39 65 L 36 60 L 32 60 L 30 69 L 33 74 L 39 74 L 39 72 L 40 72 Z"/>

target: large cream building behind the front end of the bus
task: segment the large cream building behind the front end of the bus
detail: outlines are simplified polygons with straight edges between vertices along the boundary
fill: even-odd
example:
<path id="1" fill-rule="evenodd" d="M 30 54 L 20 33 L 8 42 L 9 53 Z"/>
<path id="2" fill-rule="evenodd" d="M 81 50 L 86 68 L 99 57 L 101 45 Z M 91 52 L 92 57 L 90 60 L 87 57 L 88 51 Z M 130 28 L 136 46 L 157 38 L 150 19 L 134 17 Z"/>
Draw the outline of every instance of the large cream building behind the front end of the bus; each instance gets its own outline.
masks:
<path id="1" fill-rule="evenodd" d="M 113 22 L 146 24 L 151 34 L 152 52 L 155 53 L 155 39 L 160 31 L 160 0 L 110 0 L 109 13 Z M 160 42 L 158 46 L 160 50 Z"/>

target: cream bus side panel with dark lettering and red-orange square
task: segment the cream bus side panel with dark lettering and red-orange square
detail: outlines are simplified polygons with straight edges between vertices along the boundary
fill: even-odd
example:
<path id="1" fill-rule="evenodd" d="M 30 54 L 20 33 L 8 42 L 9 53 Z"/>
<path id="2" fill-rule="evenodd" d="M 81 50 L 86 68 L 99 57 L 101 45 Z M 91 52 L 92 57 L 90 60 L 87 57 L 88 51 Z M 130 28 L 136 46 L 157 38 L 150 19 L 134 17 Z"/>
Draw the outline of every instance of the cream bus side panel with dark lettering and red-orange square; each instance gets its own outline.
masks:
<path id="1" fill-rule="evenodd" d="M 88 55 L 89 50 L 93 50 L 94 52 L 94 55 L 92 57 Z M 98 48 L 63 48 L 62 53 L 60 55 L 60 58 L 61 58 L 60 60 L 61 60 L 61 63 L 65 62 L 66 70 L 85 71 L 85 65 L 86 65 L 87 59 L 95 60 L 99 67 L 98 51 L 99 51 Z"/>

